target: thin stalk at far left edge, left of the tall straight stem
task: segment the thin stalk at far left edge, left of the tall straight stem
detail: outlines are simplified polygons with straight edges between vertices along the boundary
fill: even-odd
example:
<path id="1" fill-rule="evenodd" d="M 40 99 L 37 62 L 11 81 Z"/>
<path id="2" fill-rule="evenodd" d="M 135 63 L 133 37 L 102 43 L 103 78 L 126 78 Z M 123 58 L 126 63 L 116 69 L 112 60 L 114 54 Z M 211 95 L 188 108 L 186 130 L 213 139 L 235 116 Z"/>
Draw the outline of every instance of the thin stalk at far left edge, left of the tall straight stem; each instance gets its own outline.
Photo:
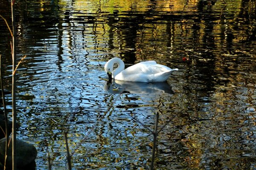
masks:
<path id="1" fill-rule="evenodd" d="M 5 160 L 4 160 L 4 170 L 6 170 L 6 158 L 7 158 L 7 150 L 8 150 L 8 140 L 9 140 L 9 130 L 8 130 L 8 117 L 7 117 L 7 111 L 6 111 L 6 100 L 5 100 L 5 94 L 4 94 L 4 88 L 3 88 L 3 74 L 2 74 L 2 55 L 0 55 L 0 83 L 1 83 L 1 89 L 2 89 L 2 99 L 3 99 L 3 112 L 5 117 L 5 136 L 6 136 L 6 152 L 5 152 Z"/>

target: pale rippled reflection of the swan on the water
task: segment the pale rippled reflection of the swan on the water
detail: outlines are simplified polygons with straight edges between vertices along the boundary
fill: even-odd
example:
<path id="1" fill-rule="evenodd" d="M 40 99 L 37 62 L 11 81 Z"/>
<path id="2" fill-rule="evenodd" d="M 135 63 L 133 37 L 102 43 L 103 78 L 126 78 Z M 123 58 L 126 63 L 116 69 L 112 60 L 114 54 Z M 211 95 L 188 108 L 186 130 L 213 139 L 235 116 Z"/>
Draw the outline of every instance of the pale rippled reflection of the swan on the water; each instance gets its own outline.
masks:
<path id="1" fill-rule="evenodd" d="M 104 87 L 111 94 L 173 94 L 172 88 L 167 82 L 128 82 L 113 80 L 108 81 Z"/>

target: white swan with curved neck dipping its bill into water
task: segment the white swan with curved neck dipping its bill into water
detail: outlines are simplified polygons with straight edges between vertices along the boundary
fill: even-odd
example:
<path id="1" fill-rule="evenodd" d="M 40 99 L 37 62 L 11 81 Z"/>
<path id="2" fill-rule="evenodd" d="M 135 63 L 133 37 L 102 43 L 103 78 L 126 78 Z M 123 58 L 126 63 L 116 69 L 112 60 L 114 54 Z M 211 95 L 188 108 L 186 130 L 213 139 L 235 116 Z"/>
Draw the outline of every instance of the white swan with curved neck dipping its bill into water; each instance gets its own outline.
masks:
<path id="1" fill-rule="evenodd" d="M 118 67 L 113 70 L 113 65 Z M 105 64 L 105 71 L 109 79 L 130 81 L 130 82 L 164 82 L 178 69 L 171 69 L 155 61 L 145 61 L 132 65 L 124 70 L 125 64 L 122 59 L 113 58 Z"/>

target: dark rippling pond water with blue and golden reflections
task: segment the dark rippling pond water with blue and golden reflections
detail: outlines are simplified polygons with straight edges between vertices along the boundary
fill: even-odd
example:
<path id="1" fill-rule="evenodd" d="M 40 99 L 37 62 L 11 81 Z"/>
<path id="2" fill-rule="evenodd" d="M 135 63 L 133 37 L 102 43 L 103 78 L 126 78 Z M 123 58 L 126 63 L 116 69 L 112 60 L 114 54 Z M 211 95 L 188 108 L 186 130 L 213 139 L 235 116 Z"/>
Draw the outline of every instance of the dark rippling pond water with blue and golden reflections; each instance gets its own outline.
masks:
<path id="1" fill-rule="evenodd" d="M 17 71 L 17 137 L 37 148 L 37 170 L 47 170 L 48 153 L 53 169 L 67 169 L 65 130 L 73 169 L 147 170 L 157 114 L 154 169 L 255 170 L 255 4 L 16 1 L 17 55 L 27 56 Z M 0 1 L 10 23 L 9 6 Z M 7 89 L 10 40 L 0 20 Z M 108 86 L 112 57 L 179 71 L 160 85 Z"/>

